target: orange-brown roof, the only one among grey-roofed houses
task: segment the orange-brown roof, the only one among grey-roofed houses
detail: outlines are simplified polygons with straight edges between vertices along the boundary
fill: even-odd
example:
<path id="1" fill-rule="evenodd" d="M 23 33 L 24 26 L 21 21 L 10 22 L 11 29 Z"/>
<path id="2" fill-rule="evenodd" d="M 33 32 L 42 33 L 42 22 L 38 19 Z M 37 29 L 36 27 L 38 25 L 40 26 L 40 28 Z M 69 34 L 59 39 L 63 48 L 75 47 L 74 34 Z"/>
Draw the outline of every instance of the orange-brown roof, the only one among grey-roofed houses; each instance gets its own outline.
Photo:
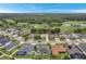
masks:
<path id="1" fill-rule="evenodd" d="M 51 50 L 53 55 L 57 55 L 58 53 L 61 52 L 65 52 L 65 48 L 63 46 L 52 46 Z"/>

